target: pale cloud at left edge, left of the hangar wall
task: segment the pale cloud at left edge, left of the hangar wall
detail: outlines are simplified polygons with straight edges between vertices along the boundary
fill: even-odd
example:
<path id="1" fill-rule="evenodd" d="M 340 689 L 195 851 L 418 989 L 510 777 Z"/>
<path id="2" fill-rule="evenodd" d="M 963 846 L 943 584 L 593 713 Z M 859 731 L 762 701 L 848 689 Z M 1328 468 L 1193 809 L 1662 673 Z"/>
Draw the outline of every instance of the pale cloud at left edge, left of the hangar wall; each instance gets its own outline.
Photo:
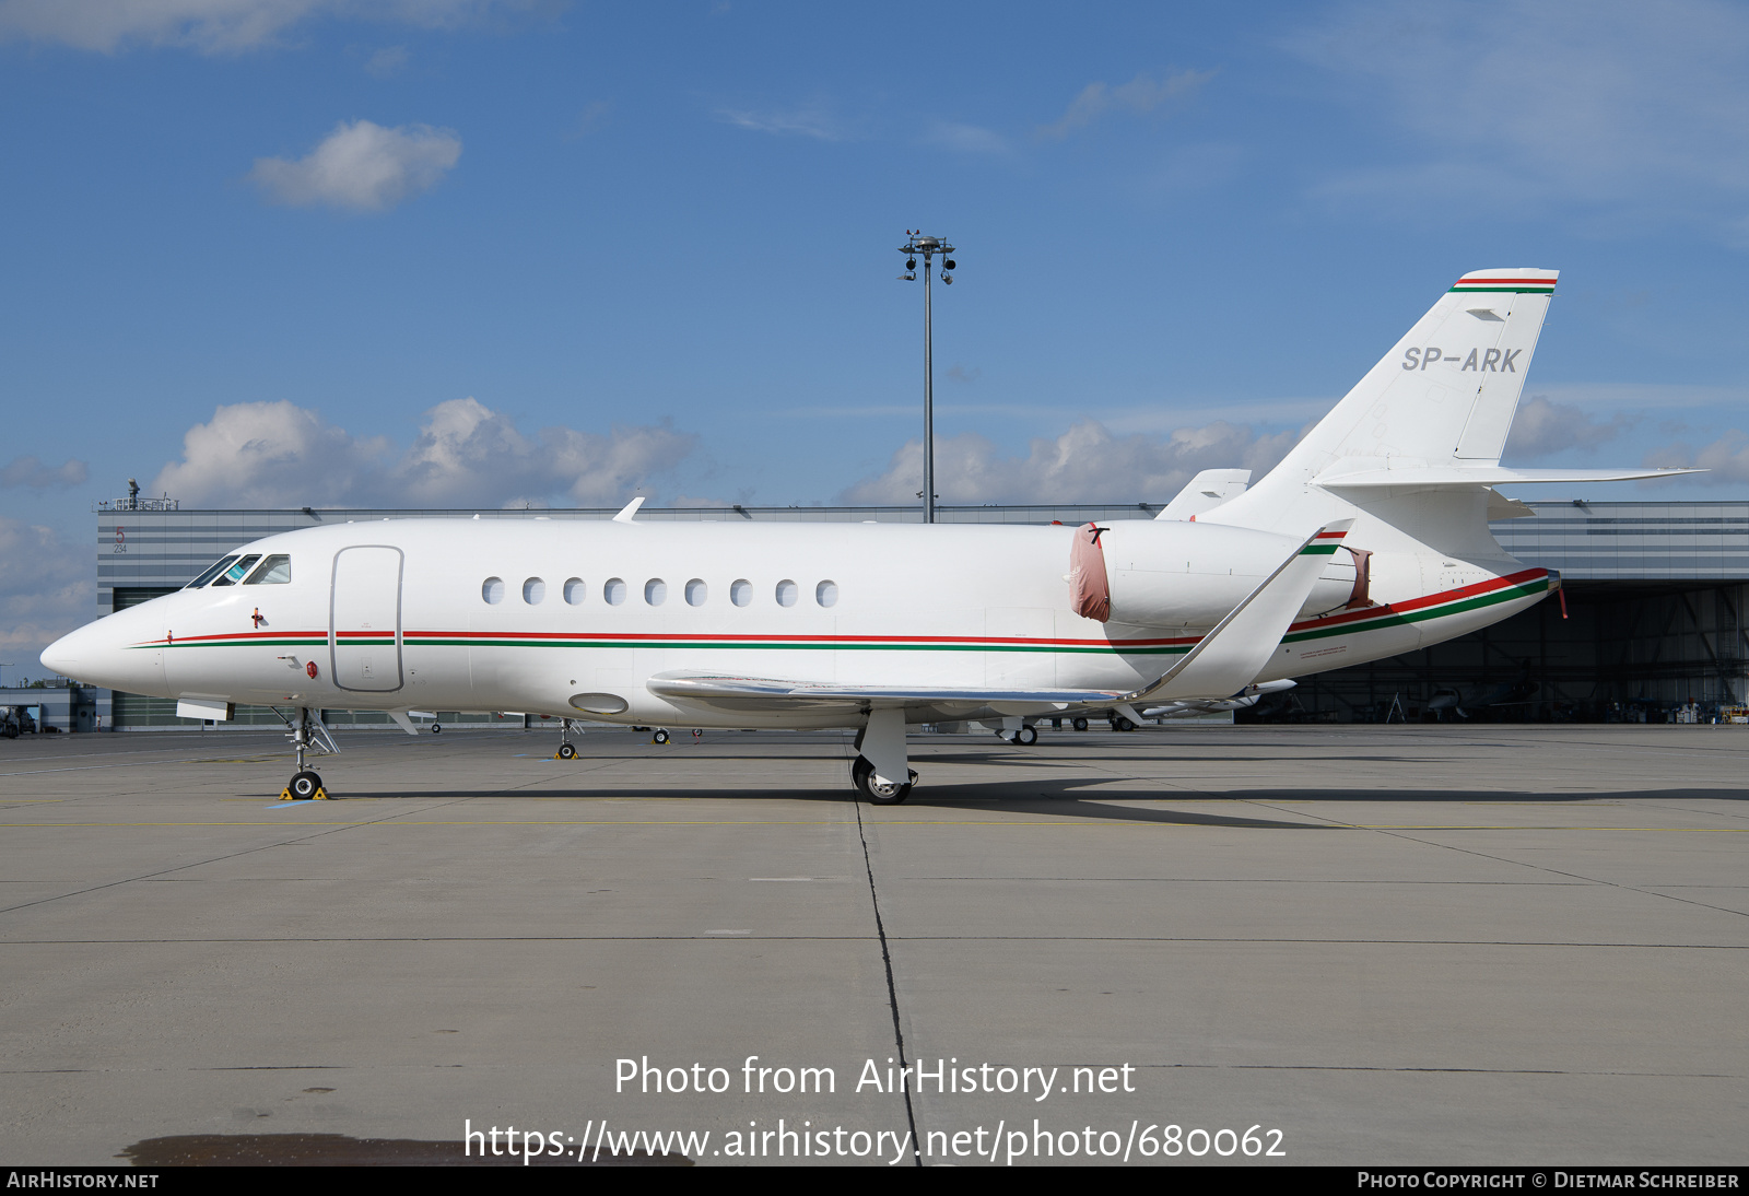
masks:
<path id="1" fill-rule="evenodd" d="M 0 516 L 0 652 L 5 682 L 42 677 L 42 649 L 96 617 L 96 570 L 87 546 Z"/>

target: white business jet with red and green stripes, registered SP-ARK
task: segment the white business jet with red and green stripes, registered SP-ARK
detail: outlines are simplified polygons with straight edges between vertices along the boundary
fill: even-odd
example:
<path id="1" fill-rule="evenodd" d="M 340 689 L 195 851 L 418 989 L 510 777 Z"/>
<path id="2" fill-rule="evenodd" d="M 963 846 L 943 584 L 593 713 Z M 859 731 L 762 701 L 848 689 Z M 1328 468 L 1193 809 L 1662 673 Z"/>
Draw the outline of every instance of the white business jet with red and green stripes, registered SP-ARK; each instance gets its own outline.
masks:
<path id="1" fill-rule="evenodd" d="M 1153 521 L 346 523 L 241 546 L 42 663 L 184 717 L 289 706 L 292 797 L 325 796 L 304 752 L 343 708 L 854 727 L 852 782 L 899 803 L 908 724 L 1142 722 L 1548 596 L 1488 532 L 1529 512 L 1495 486 L 1683 472 L 1501 469 L 1555 278 L 1464 275 L 1256 486 L 1205 474 Z"/>

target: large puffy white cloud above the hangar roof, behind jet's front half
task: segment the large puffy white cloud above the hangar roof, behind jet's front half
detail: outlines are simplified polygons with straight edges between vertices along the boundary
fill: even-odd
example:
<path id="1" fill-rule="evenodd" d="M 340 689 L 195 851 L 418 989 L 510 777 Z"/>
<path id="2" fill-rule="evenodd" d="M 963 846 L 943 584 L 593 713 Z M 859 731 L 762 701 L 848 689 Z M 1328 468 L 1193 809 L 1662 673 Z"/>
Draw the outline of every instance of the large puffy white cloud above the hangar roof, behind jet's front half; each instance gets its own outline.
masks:
<path id="1" fill-rule="evenodd" d="M 164 465 L 152 493 L 187 507 L 505 507 L 614 505 L 675 467 L 696 437 L 666 421 L 609 434 L 514 421 L 474 399 L 425 413 L 413 444 L 355 437 L 290 402 L 219 407 L 189 428 L 182 460 Z"/>

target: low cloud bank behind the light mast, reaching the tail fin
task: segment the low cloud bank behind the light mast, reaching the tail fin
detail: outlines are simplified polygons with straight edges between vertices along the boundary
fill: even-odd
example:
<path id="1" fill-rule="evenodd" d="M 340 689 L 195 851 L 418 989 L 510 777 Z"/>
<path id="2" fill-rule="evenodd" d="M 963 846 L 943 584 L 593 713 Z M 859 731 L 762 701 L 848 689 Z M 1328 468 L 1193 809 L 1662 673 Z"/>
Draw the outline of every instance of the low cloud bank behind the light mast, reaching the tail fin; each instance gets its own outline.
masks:
<path id="1" fill-rule="evenodd" d="M 941 502 L 1167 502 L 1203 469 L 1272 469 L 1298 432 L 1259 434 L 1217 420 L 1170 435 L 1116 437 L 1083 420 L 1056 439 L 1035 439 L 1027 456 L 1002 456 L 976 432 L 936 441 L 936 493 Z M 847 504 L 916 502 L 923 488 L 923 446 L 909 441 L 885 474 L 843 493 Z"/>

